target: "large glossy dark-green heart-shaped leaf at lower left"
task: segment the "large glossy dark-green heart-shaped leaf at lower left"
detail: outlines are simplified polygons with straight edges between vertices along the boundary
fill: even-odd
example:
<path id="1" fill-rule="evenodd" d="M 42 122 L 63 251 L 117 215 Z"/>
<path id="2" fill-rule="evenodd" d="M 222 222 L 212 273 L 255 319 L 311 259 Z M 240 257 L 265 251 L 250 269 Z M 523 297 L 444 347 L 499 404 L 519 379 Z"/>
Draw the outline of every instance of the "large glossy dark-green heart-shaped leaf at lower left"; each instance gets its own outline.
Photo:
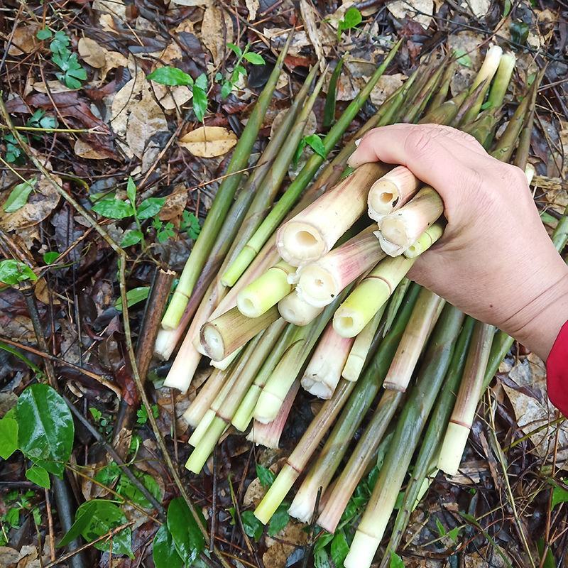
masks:
<path id="1" fill-rule="evenodd" d="M 18 398 L 16 420 L 21 452 L 50 474 L 62 477 L 75 437 L 65 400 L 48 385 L 28 386 Z"/>

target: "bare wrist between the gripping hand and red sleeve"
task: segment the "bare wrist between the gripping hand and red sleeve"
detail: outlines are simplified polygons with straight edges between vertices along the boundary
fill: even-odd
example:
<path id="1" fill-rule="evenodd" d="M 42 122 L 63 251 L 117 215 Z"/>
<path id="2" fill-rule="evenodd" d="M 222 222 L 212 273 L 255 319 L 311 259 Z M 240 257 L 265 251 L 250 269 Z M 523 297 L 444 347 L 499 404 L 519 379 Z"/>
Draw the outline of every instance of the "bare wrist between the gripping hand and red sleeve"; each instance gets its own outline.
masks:
<path id="1" fill-rule="evenodd" d="M 546 279 L 547 286 L 501 326 L 544 361 L 568 321 L 568 267 L 562 261 L 555 268 L 552 278 Z"/>

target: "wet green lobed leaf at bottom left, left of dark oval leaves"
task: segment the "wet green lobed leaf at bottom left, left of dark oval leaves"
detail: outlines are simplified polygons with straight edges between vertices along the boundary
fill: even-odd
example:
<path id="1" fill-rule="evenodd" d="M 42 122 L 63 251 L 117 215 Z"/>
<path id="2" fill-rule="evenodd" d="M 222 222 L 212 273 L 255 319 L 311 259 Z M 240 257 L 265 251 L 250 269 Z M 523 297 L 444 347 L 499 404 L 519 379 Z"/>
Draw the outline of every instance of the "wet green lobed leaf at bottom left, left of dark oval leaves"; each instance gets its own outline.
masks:
<path id="1" fill-rule="evenodd" d="M 79 536 L 82 536 L 87 542 L 92 542 L 127 522 L 126 515 L 112 501 L 107 499 L 87 501 L 77 509 L 75 523 L 72 524 L 58 546 L 66 546 Z M 133 558 L 131 540 L 131 529 L 127 527 L 121 530 L 112 537 L 112 553 L 114 555 L 128 555 Z M 101 540 L 94 547 L 97 550 L 108 552 L 110 542 L 109 540 Z"/>

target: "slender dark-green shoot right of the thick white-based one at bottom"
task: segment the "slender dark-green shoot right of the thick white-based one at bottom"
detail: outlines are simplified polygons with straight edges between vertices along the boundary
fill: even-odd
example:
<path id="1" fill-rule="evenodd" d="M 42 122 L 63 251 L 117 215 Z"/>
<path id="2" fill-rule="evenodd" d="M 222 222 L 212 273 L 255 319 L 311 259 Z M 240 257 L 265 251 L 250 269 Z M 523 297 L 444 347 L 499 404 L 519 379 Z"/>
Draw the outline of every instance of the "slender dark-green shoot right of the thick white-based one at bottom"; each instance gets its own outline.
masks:
<path id="1" fill-rule="evenodd" d="M 415 508 L 418 494 L 424 484 L 432 460 L 435 459 L 439 451 L 442 437 L 446 432 L 449 415 L 452 413 L 452 408 L 454 408 L 456 393 L 459 388 L 459 381 L 461 381 L 461 375 L 464 371 L 464 364 L 471 340 L 471 332 L 473 332 L 474 329 L 474 322 L 475 320 L 471 317 L 466 317 L 464 320 L 464 325 L 461 328 L 456 343 L 456 349 L 452 356 L 452 362 L 449 364 L 446 378 L 444 379 L 444 386 L 442 387 L 434 410 L 432 410 L 430 424 L 428 425 L 424 439 L 422 439 L 420 452 L 413 466 L 412 476 L 410 476 L 410 481 L 406 486 L 403 505 L 396 515 L 391 532 L 391 540 L 388 542 L 388 547 L 386 548 L 379 568 L 388 568 L 388 564 L 391 562 L 391 552 L 396 552 L 398 548 L 403 533 L 408 526 L 410 514 Z"/>

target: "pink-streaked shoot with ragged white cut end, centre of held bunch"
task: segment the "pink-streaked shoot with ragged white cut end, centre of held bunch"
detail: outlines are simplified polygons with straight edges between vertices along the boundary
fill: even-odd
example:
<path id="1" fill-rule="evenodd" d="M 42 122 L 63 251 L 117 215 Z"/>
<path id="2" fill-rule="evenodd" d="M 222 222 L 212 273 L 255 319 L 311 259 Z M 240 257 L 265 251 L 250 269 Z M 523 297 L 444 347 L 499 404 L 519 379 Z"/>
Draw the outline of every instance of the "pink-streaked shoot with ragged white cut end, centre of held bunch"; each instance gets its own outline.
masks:
<path id="1" fill-rule="evenodd" d="M 373 226 L 364 229 L 318 261 L 298 270 L 296 291 L 314 307 L 324 307 L 344 289 L 385 258 Z"/>

